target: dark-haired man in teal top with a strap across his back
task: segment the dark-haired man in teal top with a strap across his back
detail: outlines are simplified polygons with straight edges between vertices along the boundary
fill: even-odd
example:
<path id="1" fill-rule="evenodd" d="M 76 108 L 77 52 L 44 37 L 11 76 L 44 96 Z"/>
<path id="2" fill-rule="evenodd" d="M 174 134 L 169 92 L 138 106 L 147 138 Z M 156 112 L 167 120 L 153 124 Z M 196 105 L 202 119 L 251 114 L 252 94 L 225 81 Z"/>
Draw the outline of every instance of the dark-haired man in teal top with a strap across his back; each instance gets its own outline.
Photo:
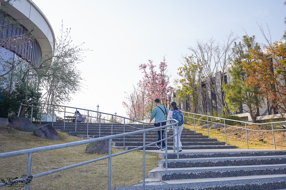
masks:
<path id="1" fill-rule="evenodd" d="M 155 102 L 156 107 L 152 111 L 149 123 L 151 123 L 152 119 L 154 119 L 154 118 L 155 118 L 156 122 L 157 121 L 165 121 L 166 120 L 165 115 L 168 115 L 168 110 L 166 109 L 166 107 L 164 107 L 160 104 L 159 99 L 155 99 L 154 102 Z M 156 125 L 157 125 L 157 127 L 164 126 L 164 125 L 166 125 L 166 122 L 156 123 Z M 149 124 L 149 126 L 150 126 L 150 124 Z M 158 131 L 158 141 L 160 141 L 161 139 L 164 139 L 163 138 L 164 131 L 165 131 L 165 128 L 162 128 L 162 131 Z M 158 148 L 160 148 L 161 142 L 158 144 L 156 143 L 155 145 Z M 162 141 L 162 150 L 165 150 L 165 149 L 166 149 L 165 141 Z"/>

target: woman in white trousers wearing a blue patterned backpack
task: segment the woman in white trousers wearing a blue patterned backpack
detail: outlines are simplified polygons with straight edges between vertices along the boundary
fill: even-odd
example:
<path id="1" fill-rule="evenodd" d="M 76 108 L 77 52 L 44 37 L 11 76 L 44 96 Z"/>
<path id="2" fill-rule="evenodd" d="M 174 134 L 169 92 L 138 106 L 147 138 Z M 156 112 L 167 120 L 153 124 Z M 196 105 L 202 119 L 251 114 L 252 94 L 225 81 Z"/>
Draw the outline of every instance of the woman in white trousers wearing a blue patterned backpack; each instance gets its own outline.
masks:
<path id="1" fill-rule="evenodd" d="M 172 109 L 170 109 L 168 116 L 167 116 L 167 120 L 168 119 L 176 119 L 177 121 L 179 121 L 178 123 L 178 132 L 179 132 L 179 152 L 182 151 L 182 143 L 181 143 L 181 134 L 182 134 L 182 130 L 184 128 L 184 116 L 182 111 L 177 107 L 176 102 L 171 102 L 171 107 Z M 173 122 L 174 123 L 174 122 Z M 167 125 L 171 124 L 170 121 L 167 122 Z M 176 125 L 172 126 L 174 129 L 177 129 Z M 173 131 L 174 134 L 176 134 L 176 131 Z M 175 145 L 173 145 L 173 149 L 177 150 L 177 136 L 174 137 L 175 138 Z"/>

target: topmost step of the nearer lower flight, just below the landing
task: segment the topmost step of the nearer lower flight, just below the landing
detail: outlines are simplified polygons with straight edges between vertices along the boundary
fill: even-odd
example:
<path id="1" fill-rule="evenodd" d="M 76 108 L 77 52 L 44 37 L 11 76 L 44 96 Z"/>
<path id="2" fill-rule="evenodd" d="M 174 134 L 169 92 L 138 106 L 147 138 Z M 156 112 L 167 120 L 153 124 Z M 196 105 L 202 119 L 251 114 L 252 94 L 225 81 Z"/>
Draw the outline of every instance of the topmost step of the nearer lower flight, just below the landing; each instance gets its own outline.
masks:
<path id="1" fill-rule="evenodd" d="M 165 153 L 160 153 L 160 158 L 165 158 Z M 210 158 L 210 157 L 242 157 L 242 156 L 271 156 L 286 155 L 285 150 L 275 151 L 235 151 L 235 152 L 196 152 L 196 153 L 179 153 L 181 158 Z M 168 159 L 177 159 L 177 153 L 168 153 Z"/>

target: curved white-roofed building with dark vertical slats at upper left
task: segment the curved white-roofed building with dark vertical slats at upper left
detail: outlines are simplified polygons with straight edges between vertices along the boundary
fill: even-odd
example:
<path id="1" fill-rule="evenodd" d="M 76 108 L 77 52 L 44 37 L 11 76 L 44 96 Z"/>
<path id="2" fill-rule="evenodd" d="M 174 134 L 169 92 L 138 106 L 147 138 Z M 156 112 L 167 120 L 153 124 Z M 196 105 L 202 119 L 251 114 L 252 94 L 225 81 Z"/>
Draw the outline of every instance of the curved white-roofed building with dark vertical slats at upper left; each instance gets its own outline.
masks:
<path id="1" fill-rule="evenodd" d="M 37 65 L 42 56 L 51 56 L 53 54 L 53 44 L 55 41 L 53 28 L 43 12 L 33 3 L 33 1 L 21 0 L 10 2 L 11 5 L 7 7 L 5 7 L 3 3 L 1 5 L 0 39 L 7 39 L 11 36 L 21 36 L 27 33 L 32 27 L 35 28 L 32 32 L 35 38 L 30 40 L 22 49 L 2 40 L 0 44 L 0 54 L 2 54 L 2 58 L 0 61 L 5 62 L 5 60 L 7 60 L 8 62 L 8 59 L 13 59 L 13 61 L 14 59 L 23 59 L 30 64 Z M 17 21 L 21 23 L 21 27 L 13 24 L 9 25 L 9 23 Z M 9 64 L 7 64 L 8 67 L 4 67 L 3 65 L 0 67 L 0 75 L 9 71 Z M 13 72 L 13 70 L 11 72 Z M 7 90 L 7 84 L 3 85 L 3 81 L 1 80 L 0 77 L 0 88 Z M 1 85 L 3 85 L 3 87 L 1 87 Z M 3 94 L 0 93 L 0 99 L 1 98 L 3 98 Z M 5 110 L 5 107 L 0 108 L 0 125 L 7 124 L 7 111 Z"/>

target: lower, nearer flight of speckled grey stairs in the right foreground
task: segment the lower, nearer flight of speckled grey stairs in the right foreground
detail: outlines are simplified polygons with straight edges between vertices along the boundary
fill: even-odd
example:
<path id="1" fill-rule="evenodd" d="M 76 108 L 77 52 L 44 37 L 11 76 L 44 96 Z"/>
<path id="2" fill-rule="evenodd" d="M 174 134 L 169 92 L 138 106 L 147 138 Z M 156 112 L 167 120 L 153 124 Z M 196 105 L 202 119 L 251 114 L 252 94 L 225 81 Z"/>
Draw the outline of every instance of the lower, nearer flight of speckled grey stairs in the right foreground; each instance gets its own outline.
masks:
<path id="1" fill-rule="evenodd" d="M 160 153 L 164 157 L 165 153 Z M 148 172 L 145 186 L 115 187 L 114 190 L 212 189 L 274 190 L 286 188 L 286 151 L 218 150 L 168 153 Z"/>

